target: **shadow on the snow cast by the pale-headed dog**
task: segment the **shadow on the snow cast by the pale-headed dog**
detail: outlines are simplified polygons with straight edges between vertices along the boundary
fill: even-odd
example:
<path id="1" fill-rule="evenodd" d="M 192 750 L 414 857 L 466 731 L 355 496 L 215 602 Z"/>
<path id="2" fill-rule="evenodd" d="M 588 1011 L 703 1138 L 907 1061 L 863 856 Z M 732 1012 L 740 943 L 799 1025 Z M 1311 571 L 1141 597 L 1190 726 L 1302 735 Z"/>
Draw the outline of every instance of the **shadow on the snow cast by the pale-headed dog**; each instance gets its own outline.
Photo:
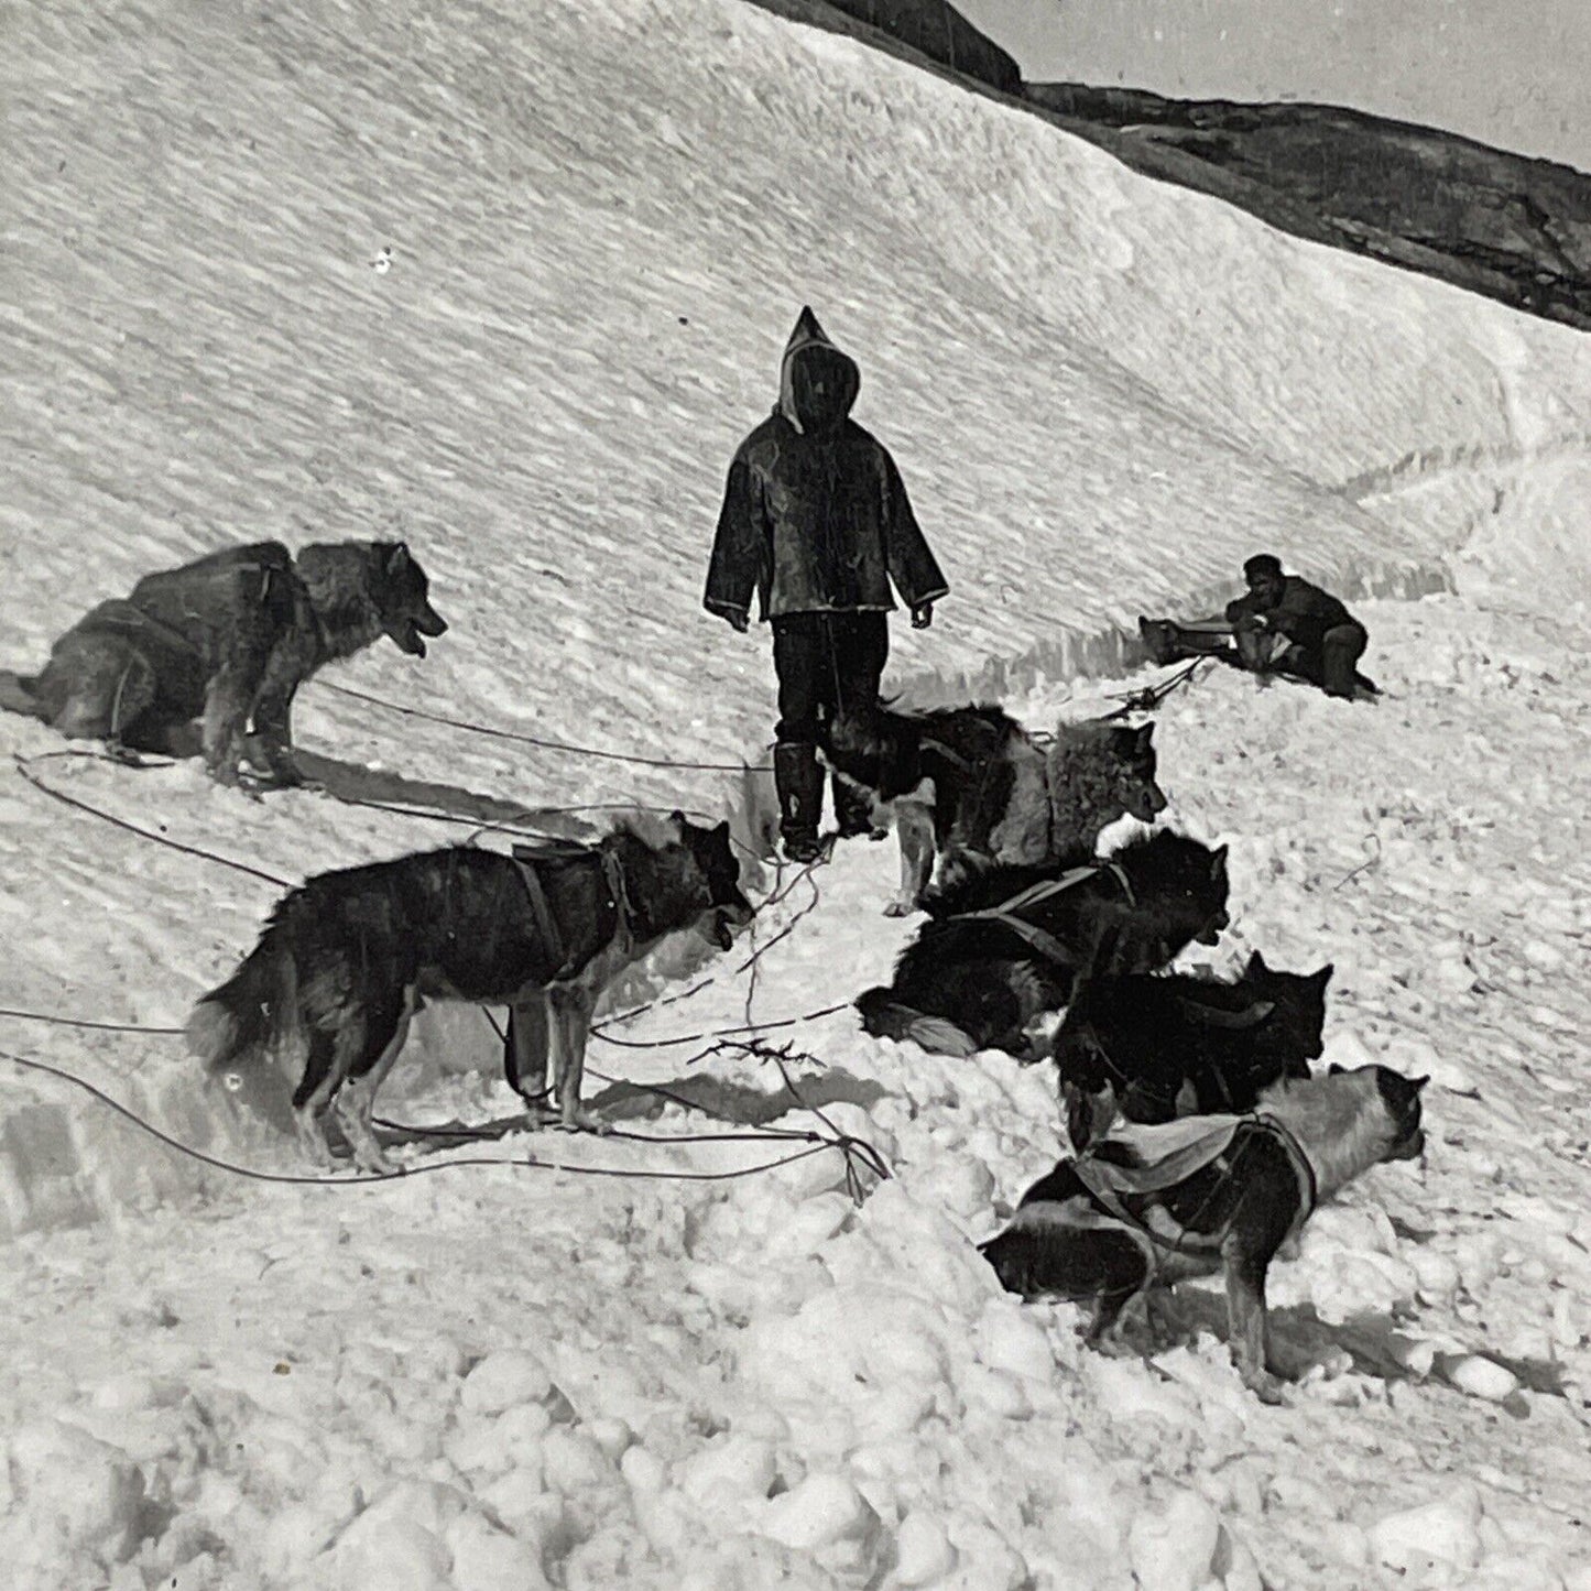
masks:
<path id="1" fill-rule="evenodd" d="M 1209 1332 L 1220 1341 L 1227 1340 L 1227 1303 L 1219 1292 L 1185 1287 L 1171 1298 L 1158 1301 L 1165 1324 L 1173 1332 L 1192 1335 Z M 1271 1357 L 1289 1378 L 1305 1375 L 1314 1365 L 1346 1356 L 1351 1368 L 1362 1376 L 1394 1384 L 1398 1381 L 1435 1381 L 1454 1391 L 1454 1368 L 1465 1359 L 1486 1359 L 1511 1371 L 1519 1387 L 1551 1397 L 1567 1397 L 1562 1367 L 1543 1359 L 1515 1359 L 1492 1349 L 1467 1352 L 1437 1351 L 1429 1359 L 1421 1352 L 1421 1340 L 1398 1330 L 1397 1324 L 1373 1311 L 1349 1316 L 1346 1321 L 1322 1321 L 1314 1305 L 1298 1303 L 1271 1308 L 1270 1340 Z M 1513 1392 L 1503 1398 L 1502 1408 L 1518 1418 L 1529 1414 L 1529 1403 Z"/>

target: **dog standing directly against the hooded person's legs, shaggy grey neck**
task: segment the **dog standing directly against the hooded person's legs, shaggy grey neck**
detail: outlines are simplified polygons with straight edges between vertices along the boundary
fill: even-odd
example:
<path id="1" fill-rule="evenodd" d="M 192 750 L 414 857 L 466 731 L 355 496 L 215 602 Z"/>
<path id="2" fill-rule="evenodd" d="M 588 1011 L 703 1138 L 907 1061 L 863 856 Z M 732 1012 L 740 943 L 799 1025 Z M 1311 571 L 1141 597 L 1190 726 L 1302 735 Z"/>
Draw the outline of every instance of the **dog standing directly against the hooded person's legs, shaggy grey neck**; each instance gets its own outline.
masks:
<path id="1" fill-rule="evenodd" d="M 1153 823 L 1153 724 L 1061 724 L 1044 748 L 998 706 L 840 714 L 821 732 L 824 760 L 893 808 L 901 893 L 889 916 L 918 910 L 936 859 L 940 881 L 963 856 L 1041 864 L 1093 854 L 1099 831 L 1125 813 Z"/>

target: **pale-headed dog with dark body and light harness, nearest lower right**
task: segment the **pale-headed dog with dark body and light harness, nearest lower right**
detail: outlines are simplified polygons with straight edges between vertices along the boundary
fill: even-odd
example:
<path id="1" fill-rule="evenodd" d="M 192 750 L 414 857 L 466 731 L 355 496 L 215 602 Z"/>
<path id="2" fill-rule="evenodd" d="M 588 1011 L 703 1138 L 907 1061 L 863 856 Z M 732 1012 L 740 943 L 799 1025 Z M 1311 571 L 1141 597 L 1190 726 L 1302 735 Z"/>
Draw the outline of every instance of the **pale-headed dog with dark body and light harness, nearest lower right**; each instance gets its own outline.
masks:
<path id="1" fill-rule="evenodd" d="M 1424 1152 L 1426 1082 L 1333 1066 L 1270 1088 L 1254 1115 L 1130 1128 L 1060 1161 L 982 1252 L 1009 1292 L 1091 1300 L 1090 1341 L 1150 1287 L 1225 1270 L 1233 1359 L 1244 1384 L 1276 1402 L 1266 1270 L 1322 1200 L 1381 1161 Z"/>

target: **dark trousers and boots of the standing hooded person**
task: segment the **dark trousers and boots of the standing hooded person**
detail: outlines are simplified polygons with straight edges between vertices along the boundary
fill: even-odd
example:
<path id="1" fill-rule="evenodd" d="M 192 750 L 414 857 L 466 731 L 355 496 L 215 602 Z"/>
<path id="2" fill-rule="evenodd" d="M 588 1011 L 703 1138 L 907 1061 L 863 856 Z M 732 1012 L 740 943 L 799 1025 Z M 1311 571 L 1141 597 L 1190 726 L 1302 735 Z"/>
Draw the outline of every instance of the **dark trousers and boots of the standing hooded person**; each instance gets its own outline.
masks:
<path id="1" fill-rule="evenodd" d="M 889 619 L 883 613 L 788 613 L 773 620 L 773 673 L 780 681 L 773 776 L 786 838 L 818 832 L 818 725 L 835 713 L 875 706 L 888 655 Z M 832 784 L 840 832 L 866 829 L 870 803 L 838 780 Z"/>

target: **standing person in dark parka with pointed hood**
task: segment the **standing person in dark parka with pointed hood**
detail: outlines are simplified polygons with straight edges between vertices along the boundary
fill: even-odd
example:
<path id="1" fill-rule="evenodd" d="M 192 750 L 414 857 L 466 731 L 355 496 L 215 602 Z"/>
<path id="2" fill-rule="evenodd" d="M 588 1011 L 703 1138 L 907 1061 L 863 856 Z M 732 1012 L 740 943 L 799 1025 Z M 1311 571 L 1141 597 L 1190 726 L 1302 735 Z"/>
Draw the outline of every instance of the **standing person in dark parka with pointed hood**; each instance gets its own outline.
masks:
<path id="1" fill-rule="evenodd" d="M 856 361 L 803 309 L 784 348 L 780 401 L 729 466 L 702 598 L 745 632 L 756 592 L 759 617 L 773 625 L 773 780 L 784 854 L 797 862 L 819 854 L 818 727 L 878 700 L 891 582 L 916 630 L 950 590 L 888 449 L 850 417 L 861 380 Z M 834 807 L 842 835 L 870 827 L 866 797 L 838 781 Z"/>

